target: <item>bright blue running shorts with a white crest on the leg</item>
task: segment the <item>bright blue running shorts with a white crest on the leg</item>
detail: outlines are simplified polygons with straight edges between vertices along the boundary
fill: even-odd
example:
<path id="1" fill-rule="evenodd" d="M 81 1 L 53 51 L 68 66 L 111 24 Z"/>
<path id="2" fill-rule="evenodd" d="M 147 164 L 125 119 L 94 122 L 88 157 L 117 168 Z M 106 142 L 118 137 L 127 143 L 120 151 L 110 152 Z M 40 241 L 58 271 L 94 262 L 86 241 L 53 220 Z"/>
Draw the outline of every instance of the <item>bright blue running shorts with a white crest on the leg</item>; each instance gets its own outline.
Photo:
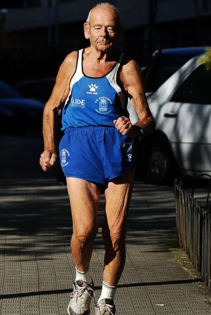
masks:
<path id="1" fill-rule="evenodd" d="M 105 184 L 135 166 L 134 139 L 115 127 L 69 127 L 60 144 L 60 162 L 66 177 Z"/>

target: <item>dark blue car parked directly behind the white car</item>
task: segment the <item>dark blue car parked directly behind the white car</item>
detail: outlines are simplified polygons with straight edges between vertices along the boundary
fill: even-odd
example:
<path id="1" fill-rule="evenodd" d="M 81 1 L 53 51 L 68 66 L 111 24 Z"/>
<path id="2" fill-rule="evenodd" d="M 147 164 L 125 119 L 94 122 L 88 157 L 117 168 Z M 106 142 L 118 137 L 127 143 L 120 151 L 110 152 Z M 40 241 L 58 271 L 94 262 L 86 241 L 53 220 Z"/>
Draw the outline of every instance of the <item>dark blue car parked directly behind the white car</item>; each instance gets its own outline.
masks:
<path id="1" fill-rule="evenodd" d="M 205 52 L 205 47 L 157 49 L 145 70 L 145 90 L 149 95 L 156 91 L 175 71 L 192 57 Z"/>

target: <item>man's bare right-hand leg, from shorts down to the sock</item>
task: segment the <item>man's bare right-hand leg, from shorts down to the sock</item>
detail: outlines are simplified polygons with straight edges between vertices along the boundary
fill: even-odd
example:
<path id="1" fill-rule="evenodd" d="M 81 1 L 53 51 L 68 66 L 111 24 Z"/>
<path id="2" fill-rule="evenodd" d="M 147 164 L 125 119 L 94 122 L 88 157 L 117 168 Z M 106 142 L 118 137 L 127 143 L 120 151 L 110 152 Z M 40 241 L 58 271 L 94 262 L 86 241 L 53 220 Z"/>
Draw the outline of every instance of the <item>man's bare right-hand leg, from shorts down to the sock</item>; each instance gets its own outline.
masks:
<path id="1" fill-rule="evenodd" d="M 110 286 L 117 285 L 125 264 L 126 217 L 133 184 L 134 170 L 111 181 L 105 190 L 103 281 Z"/>

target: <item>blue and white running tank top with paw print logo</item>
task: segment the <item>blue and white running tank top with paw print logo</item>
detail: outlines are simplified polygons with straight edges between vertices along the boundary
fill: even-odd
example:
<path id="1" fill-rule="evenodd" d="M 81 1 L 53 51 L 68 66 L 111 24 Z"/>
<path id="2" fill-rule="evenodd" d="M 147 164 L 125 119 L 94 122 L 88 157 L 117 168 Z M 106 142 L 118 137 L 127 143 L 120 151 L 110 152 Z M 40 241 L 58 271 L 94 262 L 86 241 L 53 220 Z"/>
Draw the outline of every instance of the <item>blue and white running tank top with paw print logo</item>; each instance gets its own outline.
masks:
<path id="1" fill-rule="evenodd" d="M 62 112 L 62 130 L 84 126 L 114 127 L 114 119 L 128 116 L 127 97 L 117 84 L 124 53 L 107 75 L 95 78 L 83 73 L 83 51 L 78 51 L 75 73 L 70 80 L 70 92 Z"/>

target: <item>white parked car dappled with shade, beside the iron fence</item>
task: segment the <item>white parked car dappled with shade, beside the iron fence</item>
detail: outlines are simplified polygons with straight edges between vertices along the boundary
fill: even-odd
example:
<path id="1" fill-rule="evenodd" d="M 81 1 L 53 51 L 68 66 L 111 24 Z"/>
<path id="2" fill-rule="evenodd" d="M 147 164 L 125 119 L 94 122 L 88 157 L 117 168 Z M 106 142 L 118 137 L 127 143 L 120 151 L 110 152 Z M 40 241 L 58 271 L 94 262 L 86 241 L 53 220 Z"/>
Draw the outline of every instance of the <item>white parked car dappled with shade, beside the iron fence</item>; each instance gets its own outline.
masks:
<path id="1" fill-rule="evenodd" d="M 145 180 L 211 175 L 211 70 L 196 56 L 147 97 L 156 130 L 143 141 Z M 140 161 L 139 161 L 140 163 Z"/>

